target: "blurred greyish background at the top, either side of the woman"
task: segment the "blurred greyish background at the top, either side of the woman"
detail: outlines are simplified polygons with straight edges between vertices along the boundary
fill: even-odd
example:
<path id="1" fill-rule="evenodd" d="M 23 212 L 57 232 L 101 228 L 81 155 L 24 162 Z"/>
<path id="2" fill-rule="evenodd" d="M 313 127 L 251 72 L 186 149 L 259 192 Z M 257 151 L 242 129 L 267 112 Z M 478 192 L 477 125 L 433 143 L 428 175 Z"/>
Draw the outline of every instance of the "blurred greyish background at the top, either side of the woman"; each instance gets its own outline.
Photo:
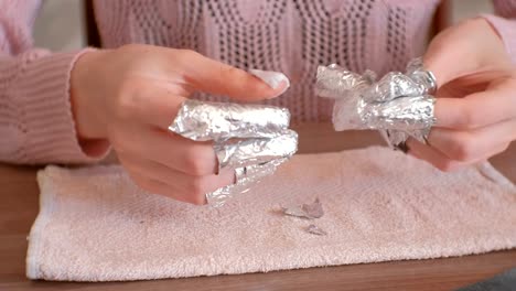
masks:
<path id="1" fill-rule="evenodd" d="M 452 23 L 493 10 L 491 0 L 447 1 L 451 6 L 449 18 Z M 34 41 L 36 46 L 52 51 L 86 46 L 84 0 L 43 0 L 34 25 Z"/>

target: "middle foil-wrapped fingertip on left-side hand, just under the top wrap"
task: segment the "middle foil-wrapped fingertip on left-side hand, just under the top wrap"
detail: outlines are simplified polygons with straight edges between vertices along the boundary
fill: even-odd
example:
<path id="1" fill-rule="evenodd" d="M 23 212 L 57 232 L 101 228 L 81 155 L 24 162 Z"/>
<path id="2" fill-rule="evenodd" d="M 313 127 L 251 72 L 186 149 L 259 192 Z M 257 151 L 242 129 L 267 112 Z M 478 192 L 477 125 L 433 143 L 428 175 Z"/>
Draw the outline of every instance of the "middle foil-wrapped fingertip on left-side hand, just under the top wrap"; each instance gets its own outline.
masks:
<path id="1" fill-rule="evenodd" d="M 272 138 L 227 140 L 214 146 L 218 169 L 261 164 L 298 151 L 298 133 L 286 129 Z"/>

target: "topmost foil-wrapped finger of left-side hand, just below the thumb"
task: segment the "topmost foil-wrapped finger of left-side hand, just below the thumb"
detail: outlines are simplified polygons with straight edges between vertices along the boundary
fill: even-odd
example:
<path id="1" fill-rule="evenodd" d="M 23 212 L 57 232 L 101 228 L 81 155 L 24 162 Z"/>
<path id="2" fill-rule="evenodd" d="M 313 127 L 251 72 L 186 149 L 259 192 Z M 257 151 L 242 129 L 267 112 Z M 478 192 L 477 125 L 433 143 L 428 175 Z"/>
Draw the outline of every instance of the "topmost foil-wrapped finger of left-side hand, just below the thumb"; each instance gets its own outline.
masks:
<path id="1" fill-rule="evenodd" d="M 290 123 L 288 109 L 187 99 L 169 129 L 196 141 L 272 138 Z"/>

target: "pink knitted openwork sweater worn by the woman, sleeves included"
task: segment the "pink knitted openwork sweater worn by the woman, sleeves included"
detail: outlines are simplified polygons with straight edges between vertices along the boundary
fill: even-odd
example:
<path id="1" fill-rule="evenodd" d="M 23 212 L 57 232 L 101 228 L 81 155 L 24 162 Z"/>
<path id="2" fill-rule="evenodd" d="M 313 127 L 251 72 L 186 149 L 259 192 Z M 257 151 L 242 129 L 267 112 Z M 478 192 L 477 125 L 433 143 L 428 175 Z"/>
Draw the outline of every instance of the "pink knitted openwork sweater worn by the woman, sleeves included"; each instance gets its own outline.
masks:
<path id="1" fill-rule="evenodd" d="M 488 15 L 516 61 L 516 0 L 494 0 Z M 0 2 L 0 161 L 88 162 L 69 103 L 69 74 L 84 51 L 32 45 L 40 0 Z M 327 120 L 315 98 L 319 64 L 354 71 L 400 69 L 424 50 L 439 0 L 96 0 L 103 45 L 149 43 L 191 48 L 241 68 L 286 73 L 292 86 L 268 103 L 293 121 Z M 222 97 L 197 96 L 212 100 Z M 171 117 L 172 118 L 172 117 Z"/>

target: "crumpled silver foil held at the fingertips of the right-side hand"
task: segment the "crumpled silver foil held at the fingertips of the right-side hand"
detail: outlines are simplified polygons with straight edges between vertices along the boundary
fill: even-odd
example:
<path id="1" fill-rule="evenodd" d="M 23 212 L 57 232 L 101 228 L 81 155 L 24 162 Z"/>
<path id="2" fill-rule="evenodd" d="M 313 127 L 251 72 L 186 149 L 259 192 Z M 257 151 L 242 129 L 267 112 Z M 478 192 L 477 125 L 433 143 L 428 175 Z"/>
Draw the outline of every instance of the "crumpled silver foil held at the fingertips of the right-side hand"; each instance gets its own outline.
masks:
<path id="1" fill-rule="evenodd" d="M 409 137 L 426 141 L 436 123 L 436 77 L 421 58 L 412 60 L 405 74 L 390 72 L 379 80 L 370 71 L 359 75 L 337 65 L 320 66 L 315 84 L 319 96 L 335 99 L 335 130 L 378 129 L 397 149 Z"/>

